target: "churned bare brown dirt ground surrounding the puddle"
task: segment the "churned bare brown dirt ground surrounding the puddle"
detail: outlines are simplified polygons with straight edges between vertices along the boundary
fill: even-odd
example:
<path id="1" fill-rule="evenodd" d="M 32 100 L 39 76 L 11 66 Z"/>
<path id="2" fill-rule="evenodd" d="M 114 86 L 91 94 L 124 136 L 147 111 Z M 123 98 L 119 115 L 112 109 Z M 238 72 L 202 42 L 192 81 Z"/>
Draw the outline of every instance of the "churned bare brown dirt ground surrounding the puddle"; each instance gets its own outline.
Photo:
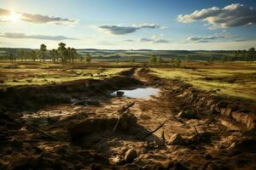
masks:
<path id="1" fill-rule="evenodd" d="M 256 169 L 256 139 L 247 133 L 254 129 L 188 105 L 172 84 L 139 71 L 109 89 L 66 96 L 70 102 L 4 108 L 0 169 Z M 110 95 L 122 83 L 119 89 L 154 87 L 160 94 Z"/>

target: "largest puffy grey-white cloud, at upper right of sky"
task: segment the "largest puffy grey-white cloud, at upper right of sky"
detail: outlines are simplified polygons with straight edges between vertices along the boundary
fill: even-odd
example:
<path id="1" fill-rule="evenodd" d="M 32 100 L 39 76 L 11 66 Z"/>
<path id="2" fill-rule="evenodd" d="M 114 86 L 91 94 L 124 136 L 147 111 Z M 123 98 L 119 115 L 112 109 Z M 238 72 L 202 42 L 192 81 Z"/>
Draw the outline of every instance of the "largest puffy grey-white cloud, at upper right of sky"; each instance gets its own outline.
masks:
<path id="1" fill-rule="evenodd" d="M 251 26 L 256 22 L 256 10 L 241 3 L 230 4 L 224 8 L 212 7 L 195 10 L 192 14 L 179 14 L 177 21 L 191 23 L 195 20 L 207 21 L 209 29 Z"/>

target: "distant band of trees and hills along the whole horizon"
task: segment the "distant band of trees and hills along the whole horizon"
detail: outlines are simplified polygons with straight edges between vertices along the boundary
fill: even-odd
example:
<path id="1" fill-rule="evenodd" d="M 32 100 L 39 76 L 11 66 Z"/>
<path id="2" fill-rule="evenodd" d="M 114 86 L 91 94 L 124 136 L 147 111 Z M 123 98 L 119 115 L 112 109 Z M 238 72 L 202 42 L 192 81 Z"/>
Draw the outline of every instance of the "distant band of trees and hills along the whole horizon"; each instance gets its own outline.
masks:
<path id="1" fill-rule="evenodd" d="M 42 44 L 39 49 L 30 48 L 0 48 L 0 59 L 45 61 L 50 59 L 55 63 L 72 64 L 73 62 L 90 62 L 91 59 L 103 59 L 109 61 L 145 61 L 151 55 L 156 55 L 165 60 L 204 60 L 204 61 L 247 61 L 248 64 L 255 59 L 255 48 L 248 50 L 110 50 L 84 48 L 66 48 L 65 43 L 59 43 L 57 49 L 47 50 Z M 45 47 L 44 47 L 45 46 Z"/>

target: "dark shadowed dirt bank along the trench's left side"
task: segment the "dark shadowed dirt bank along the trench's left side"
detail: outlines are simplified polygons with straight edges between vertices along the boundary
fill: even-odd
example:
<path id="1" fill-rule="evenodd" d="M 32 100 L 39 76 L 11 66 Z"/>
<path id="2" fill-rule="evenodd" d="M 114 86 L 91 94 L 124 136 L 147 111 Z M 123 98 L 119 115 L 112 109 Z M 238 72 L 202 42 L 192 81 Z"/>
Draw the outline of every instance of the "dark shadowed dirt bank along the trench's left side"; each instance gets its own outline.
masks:
<path id="1" fill-rule="evenodd" d="M 122 74 L 130 74 L 132 71 L 134 69 Z M 27 111 L 44 108 L 46 105 L 67 104 L 81 93 L 91 96 L 142 84 L 131 77 L 116 76 L 102 81 L 86 79 L 46 86 L 6 88 L 0 91 L 0 111 Z"/>

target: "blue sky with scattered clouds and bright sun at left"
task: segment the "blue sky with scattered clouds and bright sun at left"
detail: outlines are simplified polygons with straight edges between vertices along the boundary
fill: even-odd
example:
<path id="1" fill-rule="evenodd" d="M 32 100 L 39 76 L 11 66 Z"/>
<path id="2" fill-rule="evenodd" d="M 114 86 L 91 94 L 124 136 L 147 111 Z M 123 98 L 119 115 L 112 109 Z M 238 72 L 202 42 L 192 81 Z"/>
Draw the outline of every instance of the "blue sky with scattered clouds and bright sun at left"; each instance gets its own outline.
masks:
<path id="1" fill-rule="evenodd" d="M 256 47 L 256 1 L 0 0 L 0 48 Z"/>

